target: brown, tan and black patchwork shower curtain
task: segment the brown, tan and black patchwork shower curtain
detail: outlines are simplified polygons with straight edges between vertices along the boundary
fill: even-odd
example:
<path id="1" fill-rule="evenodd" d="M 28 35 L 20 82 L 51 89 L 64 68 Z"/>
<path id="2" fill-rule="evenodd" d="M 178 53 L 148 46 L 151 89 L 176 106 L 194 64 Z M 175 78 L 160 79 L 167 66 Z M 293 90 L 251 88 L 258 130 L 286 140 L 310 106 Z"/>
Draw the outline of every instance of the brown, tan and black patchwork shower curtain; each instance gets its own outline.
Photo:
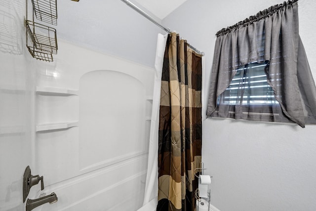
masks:
<path id="1" fill-rule="evenodd" d="M 194 211 L 201 162 L 202 56 L 179 35 L 166 41 L 158 126 L 157 211 Z"/>

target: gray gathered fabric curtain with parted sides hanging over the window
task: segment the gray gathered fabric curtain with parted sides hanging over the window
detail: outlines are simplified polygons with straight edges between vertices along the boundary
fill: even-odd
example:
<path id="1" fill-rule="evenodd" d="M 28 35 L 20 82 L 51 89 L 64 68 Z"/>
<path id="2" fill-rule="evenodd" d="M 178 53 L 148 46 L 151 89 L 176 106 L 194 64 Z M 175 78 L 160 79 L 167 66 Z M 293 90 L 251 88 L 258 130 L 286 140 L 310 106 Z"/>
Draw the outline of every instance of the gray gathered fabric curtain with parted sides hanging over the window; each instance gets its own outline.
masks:
<path id="1" fill-rule="evenodd" d="M 215 113 L 218 97 L 230 85 L 238 67 L 268 62 L 267 82 L 274 90 L 282 115 L 301 127 L 316 124 L 316 87 L 298 23 L 298 1 L 289 0 L 216 34 L 207 117 Z M 280 122 L 282 118 L 278 116 L 273 114 L 272 122 Z M 240 118 L 258 119 L 248 114 Z"/>

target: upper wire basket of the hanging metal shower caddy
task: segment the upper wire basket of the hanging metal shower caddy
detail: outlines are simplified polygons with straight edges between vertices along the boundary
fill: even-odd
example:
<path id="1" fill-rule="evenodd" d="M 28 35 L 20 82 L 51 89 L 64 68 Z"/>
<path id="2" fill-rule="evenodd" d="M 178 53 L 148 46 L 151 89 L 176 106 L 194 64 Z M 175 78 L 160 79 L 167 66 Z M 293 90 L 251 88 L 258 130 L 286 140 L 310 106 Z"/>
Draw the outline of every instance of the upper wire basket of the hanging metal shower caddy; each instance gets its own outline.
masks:
<path id="1" fill-rule="evenodd" d="M 33 10 L 38 20 L 57 25 L 56 0 L 32 0 Z"/>

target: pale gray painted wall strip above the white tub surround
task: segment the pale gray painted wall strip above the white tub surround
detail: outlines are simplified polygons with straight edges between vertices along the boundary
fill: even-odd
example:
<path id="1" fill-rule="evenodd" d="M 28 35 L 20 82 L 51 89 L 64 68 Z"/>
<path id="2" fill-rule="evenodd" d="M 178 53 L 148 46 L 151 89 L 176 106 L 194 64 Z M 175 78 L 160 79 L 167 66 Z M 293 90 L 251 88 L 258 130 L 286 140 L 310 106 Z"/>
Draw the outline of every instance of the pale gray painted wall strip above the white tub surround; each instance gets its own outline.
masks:
<path id="1" fill-rule="evenodd" d="M 56 30 L 57 39 L 150 67 L 161 32 L 120 0 L 59 0 Z"/>

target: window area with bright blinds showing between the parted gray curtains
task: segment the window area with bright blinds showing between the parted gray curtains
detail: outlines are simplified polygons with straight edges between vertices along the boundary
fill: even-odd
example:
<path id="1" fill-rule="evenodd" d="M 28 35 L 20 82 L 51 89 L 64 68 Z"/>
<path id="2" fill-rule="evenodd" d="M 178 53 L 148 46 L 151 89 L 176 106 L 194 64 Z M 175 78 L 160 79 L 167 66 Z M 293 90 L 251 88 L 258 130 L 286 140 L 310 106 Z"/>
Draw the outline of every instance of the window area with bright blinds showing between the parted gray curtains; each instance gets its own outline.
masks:
<path id="1" fill-rule="evenodd" d="M 219 95 L 212 117 L 289 122 L 268 84 L 269 62 L 252 62 L 235 70 L 231 84 Z"/>

